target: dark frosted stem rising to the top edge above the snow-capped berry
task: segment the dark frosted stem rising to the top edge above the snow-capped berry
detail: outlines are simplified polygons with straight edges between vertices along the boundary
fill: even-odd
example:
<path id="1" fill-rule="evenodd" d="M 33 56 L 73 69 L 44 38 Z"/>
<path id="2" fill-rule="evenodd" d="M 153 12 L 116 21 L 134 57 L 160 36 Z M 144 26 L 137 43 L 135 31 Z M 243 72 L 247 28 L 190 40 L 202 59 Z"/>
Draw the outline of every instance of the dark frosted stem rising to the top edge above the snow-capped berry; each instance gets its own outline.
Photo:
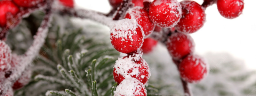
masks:
<path id="1" fill-rule="evenodd" d="M 123 0 L 123 3 L 121 3 L 120 7 L 117 8 L 117 12 L 113 18 L 113 20 L 120 20 L 124 17 L 126 11 L 132 6 L 131 5 L 132 0 Z"/>

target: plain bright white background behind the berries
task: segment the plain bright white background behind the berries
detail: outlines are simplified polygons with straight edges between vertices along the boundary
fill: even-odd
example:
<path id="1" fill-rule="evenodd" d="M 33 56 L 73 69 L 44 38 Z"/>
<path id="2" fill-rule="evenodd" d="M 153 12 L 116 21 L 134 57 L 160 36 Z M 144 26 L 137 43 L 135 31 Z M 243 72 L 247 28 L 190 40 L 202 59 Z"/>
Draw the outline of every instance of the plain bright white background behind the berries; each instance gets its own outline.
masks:
<path id="1" fill-rule="evenodd" d="M 81 8 L 108 13 L 108 0 L 75 0 Z M 178 0 L 183 1 L 183 0 Z M 194 0 L 199 4 L 203 0 Z M 244 0 L 243 14 L 235 19 L 220 15 L 217 5 L 206 9 L 206 23 L 203 28 L 191 34 L 196 43 L 196 53 L 226 52 L 243 59 L 246 67 L 256 69 L 256 0 Z"/>

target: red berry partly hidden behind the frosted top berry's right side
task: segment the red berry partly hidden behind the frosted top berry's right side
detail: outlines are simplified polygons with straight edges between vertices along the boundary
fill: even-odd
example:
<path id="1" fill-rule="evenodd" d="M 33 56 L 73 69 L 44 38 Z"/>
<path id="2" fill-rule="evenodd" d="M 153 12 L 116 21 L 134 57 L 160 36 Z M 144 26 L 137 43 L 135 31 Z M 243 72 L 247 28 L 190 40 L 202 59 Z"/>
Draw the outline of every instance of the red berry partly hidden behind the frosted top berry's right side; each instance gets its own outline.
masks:
<path id="1" fill-rule="evenodd" d="M 194 33 L 203 27 L 205 13 L 201 5 L 195 1 L 185 0 L 180 2 L 182 6 L 182 17 L 175 26 L 177 31 L 184 33 Z"/>

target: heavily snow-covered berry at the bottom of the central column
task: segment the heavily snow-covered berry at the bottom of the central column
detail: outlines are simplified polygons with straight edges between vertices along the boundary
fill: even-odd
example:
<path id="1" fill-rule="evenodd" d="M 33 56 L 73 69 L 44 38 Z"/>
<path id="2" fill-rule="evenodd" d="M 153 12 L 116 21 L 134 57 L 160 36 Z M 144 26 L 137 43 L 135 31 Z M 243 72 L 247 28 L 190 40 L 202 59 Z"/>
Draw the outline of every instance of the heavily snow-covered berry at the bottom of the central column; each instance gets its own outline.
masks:
<path id="1" fill-rule="evenodd" d="M 147 96 L 145 86 L 134 78 L 124 79 L 114 93 L 114 96 Z"/>

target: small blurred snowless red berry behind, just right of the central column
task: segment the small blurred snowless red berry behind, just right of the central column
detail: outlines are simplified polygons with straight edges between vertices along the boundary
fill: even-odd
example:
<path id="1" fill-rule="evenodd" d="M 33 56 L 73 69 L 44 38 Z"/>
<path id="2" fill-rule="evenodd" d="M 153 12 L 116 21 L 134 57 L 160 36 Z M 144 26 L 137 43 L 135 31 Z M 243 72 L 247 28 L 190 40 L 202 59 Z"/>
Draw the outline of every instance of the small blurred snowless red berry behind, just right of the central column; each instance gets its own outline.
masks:
<path id="1" fill-rule="evenodd" d="M 142 52 L 147 54 L 156 47 L 157 41 L 153 38 L 146 38 L 144 39 L 143 45 L 141 46 Z"/>

